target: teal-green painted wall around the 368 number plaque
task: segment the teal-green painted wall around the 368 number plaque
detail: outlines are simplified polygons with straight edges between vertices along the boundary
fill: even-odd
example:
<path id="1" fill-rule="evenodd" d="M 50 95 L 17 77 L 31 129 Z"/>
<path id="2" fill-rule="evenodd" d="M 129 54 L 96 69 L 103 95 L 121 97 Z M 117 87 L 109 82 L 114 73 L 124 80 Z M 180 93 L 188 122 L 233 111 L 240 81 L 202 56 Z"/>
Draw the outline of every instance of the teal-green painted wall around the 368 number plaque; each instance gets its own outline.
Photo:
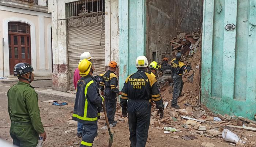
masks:
<path id="1" fill-rule="evenodd" d="M 236 25 L 225 30 L 226 24 Z M 221 114 L 256 113 L 256 0 L 204 0 L 202 99 Z M 203 100 L 201 100 L 203 101 Z"/>

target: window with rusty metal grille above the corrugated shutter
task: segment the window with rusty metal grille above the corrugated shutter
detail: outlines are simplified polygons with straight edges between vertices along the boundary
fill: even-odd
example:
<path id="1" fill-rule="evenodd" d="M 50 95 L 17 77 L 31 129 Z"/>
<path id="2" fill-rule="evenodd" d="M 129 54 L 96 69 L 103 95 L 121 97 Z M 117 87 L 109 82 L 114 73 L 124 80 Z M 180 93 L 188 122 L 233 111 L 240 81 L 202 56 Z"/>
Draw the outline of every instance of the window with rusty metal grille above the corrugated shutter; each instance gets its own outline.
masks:
<path id="1" fill-rule="evenodd" d="M 95 24 L 104 22 L 104 0 L 80 0 L 66 4 L 68 26 Z"/>

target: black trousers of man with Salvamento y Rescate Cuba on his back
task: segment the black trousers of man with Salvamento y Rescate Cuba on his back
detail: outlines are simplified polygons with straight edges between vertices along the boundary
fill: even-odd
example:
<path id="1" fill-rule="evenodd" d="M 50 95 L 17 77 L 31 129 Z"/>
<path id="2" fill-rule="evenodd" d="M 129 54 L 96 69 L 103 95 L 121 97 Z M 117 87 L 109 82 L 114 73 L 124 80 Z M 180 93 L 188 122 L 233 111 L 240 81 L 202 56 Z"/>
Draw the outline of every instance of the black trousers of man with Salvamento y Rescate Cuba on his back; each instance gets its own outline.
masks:
<path id="1" fill-rule="evenodd" d="M 145 147 L 150 125 L 150 102 L 148 100 L 129 99 L 127 112 L 131 147 Z"/>

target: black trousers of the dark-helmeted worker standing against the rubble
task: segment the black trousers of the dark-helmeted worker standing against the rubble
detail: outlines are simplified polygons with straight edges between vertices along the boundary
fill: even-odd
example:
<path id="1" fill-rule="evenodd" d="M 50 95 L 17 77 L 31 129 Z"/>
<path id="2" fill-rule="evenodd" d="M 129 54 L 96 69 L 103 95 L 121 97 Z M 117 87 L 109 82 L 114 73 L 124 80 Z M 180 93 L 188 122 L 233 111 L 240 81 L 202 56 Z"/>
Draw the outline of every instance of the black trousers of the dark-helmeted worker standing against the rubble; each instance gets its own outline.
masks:
<path id="1" fill-rule="evenodd" d="M 174 87 L 173 88 L 172 105 L 176 105 L 177 104 L 177 99 L 181 95 L 181 91 L 182 91 L 184 83 L 182 81 L 182 76 L 181 75 L 173 74 L 172 78 L 173 78 L 173 87 Z"/>

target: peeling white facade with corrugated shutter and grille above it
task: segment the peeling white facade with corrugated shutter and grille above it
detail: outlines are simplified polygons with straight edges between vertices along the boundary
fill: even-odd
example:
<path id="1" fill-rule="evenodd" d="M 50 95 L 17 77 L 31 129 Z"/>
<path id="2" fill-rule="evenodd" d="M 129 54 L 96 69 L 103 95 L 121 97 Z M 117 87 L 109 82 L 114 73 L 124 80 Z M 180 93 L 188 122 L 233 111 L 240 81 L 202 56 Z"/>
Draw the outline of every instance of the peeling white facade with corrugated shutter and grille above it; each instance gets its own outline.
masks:
<path id="1" fill-rule="evenodd" d="M 52 0 L 53 89 L 74 90 L 80 54 L 90 52 L 95 72 L 118 63 L 118 0 Z"/>

